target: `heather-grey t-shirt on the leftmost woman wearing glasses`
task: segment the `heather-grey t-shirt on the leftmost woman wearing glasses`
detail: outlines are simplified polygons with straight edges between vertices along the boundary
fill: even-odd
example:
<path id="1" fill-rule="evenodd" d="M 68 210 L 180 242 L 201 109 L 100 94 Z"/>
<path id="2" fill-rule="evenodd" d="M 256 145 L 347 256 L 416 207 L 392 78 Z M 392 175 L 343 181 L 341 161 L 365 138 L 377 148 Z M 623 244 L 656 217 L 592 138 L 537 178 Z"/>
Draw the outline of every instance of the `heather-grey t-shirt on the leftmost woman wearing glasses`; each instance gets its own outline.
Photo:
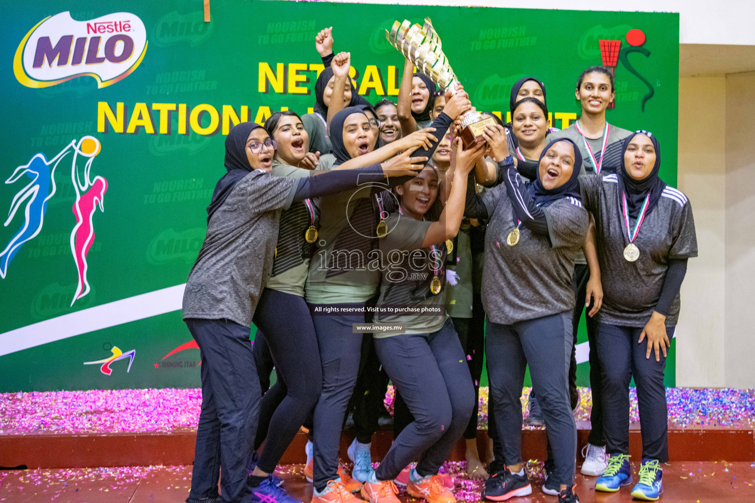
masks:
<path id="1" fill-rule="evenodd" d="M 296 180 L 263 170 L 236 183 L 208 222 L 183 292 L 184 319 L 227 318 L 251 327 L 273 268 L 281 210 L 291 206 L 296 189 Z"/>

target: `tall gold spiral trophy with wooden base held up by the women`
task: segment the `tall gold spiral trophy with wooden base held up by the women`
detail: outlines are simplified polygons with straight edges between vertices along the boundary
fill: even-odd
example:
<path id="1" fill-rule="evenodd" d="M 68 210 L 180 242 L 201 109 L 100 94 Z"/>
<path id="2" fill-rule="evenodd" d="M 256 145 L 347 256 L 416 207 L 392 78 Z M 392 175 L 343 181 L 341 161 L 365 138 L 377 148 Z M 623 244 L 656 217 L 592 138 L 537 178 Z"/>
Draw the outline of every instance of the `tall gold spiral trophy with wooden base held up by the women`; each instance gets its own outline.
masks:
<path id="1" fill-rule="evenodd" d="M 403 23 L 396 21 L 390 32 L 385 31 L 385 37 L 394 48 L 408 57 L 420 72 L 443 89 L 455 94 L 459 79 L 448 64 L 448 58 L 443 54 L 440 37 L 433 29 L 429 17 L 425 18 L 424 26 L 411 26 L 408 20 L 404 20 Z M 481 113 L 472 110 L 461 115 L 461 142 L 464 143 L 464 149 L 469 149 L 482 139 L 482 130 L 488 124 L 495 125 L 495 119 L 483 118 Z"/>

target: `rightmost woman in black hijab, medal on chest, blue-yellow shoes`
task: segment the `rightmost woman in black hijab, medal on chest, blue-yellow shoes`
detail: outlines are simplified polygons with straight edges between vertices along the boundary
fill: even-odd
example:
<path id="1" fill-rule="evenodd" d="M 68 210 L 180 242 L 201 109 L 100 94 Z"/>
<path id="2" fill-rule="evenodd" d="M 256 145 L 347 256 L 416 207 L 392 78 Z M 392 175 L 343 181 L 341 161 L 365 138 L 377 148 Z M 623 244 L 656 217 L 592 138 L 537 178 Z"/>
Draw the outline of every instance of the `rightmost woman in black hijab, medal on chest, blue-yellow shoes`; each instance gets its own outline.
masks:
<path id="1" fill-rule="evenodd" d="M 623 157 L 619 173 L 580 177 L 585 207 L 595 216 L 605 294 L 596 316 L 597 352 L 611 457 L 595 489 L 615 492 L 632 483 L 627 388 L 634 377 L 643 462 L 632 495 L 655 500 L 663 491 L 660 464 L 668 461 L 667 348 L 679 318 L 687 259 L 697 256 L 698 247 L 689 201 L 658 177 L 655 135 L 627 136 Z"/>

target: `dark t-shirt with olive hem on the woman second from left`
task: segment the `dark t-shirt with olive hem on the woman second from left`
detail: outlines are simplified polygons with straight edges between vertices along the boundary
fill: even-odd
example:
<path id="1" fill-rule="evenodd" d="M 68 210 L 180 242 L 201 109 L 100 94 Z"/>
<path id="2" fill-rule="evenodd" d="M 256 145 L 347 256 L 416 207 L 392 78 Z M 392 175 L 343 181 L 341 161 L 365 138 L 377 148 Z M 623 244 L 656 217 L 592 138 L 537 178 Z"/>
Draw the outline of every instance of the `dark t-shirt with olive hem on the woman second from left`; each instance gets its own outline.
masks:
<path id="1" fill-rule="evenodd" d="M 270 173 L 298 179 L 312 176 L 314 171 L 274 161 Z M 318 204 L 316 199 L 310 199 L 309 207 L 305 201 L 296 201 L 281 212 L 273 273 L 267 280 L 267 288 L 304 297 L 304 283 L 314 249 L 314 244 L 307 243 L 304 235 L 310 225 L 317 226 Z M 312 211 L 315 212 L 315 222 L 312 221 Z"/>

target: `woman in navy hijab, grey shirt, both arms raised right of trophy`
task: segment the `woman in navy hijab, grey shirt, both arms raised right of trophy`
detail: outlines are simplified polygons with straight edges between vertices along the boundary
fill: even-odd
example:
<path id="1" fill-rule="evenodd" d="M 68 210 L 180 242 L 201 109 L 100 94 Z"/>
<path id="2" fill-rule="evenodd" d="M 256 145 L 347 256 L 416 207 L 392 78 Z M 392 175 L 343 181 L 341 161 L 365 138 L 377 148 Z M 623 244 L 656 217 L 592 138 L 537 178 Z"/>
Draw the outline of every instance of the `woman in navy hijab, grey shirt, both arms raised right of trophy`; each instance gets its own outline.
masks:
<path id="1" fill-rule="evenodd" d="M 538 176 L 524 183 L 509 155 L 504 127 L 486 127 L 485 140 L 504 170 L 504 185 L 476 195 L 467 189 L 465 215 L 488 219 L 482 303 L 488 314 L 485 354 L 498 437 L 506 468 L 485 481 L 483 497 L 503 501 L 532 492 L 522 466 L 525 367 L 541 397 L 553 446 L 559 503 L 579 501 L 575 480 L 577 429 L 569 403 L 572 353 L 572 271 L 589 216 L 580 201 L 579 149 L 549 143 Z"/>

